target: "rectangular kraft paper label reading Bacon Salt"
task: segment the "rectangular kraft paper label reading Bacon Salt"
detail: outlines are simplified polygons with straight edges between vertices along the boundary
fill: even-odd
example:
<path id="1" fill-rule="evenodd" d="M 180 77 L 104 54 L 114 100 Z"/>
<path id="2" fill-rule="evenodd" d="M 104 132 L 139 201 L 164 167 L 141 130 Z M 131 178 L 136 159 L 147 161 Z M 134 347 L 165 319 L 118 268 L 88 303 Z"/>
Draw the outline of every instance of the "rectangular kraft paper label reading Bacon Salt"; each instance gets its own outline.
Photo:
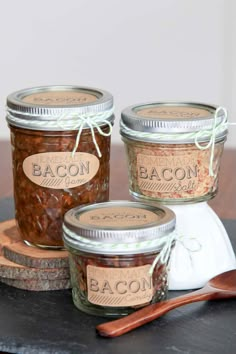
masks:
<path id="1" fill-rule="evenodd" d="M 137 156 L 138 186 L 141 191 L 181 193 L 198 187 L 198 154 Z"/>

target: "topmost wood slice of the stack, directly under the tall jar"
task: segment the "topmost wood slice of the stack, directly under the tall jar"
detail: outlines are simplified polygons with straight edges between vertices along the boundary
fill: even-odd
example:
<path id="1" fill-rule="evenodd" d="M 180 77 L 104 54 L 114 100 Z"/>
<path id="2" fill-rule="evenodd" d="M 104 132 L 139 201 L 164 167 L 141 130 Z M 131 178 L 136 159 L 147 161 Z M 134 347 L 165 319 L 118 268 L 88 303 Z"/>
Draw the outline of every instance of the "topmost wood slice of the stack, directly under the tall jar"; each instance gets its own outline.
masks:
<path id="1" fill-rule="evenodd" d="M 20 238 L 15 220 L 0 223 L 0 250 L 8 260 L 31 268 L 69 267 L 67 251 L 45 250 L 27 246 Z"/>

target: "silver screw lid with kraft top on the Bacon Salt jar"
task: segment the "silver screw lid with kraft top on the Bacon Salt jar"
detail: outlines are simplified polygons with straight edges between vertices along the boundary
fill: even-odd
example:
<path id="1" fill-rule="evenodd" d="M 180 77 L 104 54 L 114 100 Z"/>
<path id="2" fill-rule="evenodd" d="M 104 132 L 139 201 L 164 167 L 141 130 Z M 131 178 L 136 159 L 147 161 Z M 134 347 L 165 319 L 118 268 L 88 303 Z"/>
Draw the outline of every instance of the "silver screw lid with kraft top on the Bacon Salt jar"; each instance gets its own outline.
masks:
<path id="1" fill-rule="evenodd" d="M 155 134 L 163 134 L 163 143 L 191 143 L 194 133 L 211 130 L 225 121 L 222 110 L 215 118 L 217 106 L 192 102 L 151 102 L 130 106 L 121 114 L 121 135 L 141 141 L 158 141 Z M 135 136 L 136 133 L 136 136 Z M 192 135 L 191 135 L 192 133 Z M 175 137 L 179 135 L 177 140 Z M 227 135 L 222 127 L 216 140 Z M 182 139 L 181 139 L 182 136 Z M 199 136 L 199 142 L 209 141 L 207 135 Z"/>

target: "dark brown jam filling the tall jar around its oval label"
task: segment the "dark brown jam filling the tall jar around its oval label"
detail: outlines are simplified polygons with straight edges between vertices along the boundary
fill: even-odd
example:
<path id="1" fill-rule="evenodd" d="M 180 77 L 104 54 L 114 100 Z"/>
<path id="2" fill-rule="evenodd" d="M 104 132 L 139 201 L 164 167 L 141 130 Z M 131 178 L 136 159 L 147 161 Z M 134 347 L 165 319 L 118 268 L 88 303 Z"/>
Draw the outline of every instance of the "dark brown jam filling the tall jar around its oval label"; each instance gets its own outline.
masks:
<path id="1" fill-rule="evenodd" d="M 105 126 L 103 130 L 107 132 L 108 127 Z M 82 132 L 77 149 L 78 152 L 86 152 L 99 159 L 97 173 L 85 184 L 73 188 L 70 184 L 68 188 L 55 189 L 47 184 L 38 185 L 26 176 L 23 163 L 27 157 L 48 152 L 72 152 L 76 136 L 77 131 L 30 131 L 11 126 L 16 221 L 22 239 L 34 245 L 62 247 L 62 221 L 65 212 L 78 205 L 109 199 L 110 137 L 104 137 L 96 130 L 95 136 L 102 157 L 98 158 L 89 129 Z M 40 174 L 50 177 L 49 182 L 53 183 L 55 170 L 50 167 L 50 163 L 48 166 L 40 170 L 37 163 L 32 164 L 32 173 L 35 176 Z M 87 165 L 83 165 L 83 173 L 86 173 L 87 168 Z M 61 178 L 69 175 L 70 181 L 73 181 L 78 168 L 63 165 L 57 172 Z"/>

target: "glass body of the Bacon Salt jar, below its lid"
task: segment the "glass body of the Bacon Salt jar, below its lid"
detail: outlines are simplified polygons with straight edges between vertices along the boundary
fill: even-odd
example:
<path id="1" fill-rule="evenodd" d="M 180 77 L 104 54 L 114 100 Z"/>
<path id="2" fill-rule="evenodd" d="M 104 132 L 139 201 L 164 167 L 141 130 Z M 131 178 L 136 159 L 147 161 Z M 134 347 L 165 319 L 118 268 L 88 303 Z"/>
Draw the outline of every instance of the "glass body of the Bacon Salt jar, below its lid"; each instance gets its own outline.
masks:
<path id="1" fill-rule="evenodd" d="M 123 140 L 128 156 L 130 192 L 135 197 L 179 203 L 215 196 L 223 141 L 215 144 L 214 176 L 210 176 L 211 149 L 200 150 L 195 144 Z"/>

